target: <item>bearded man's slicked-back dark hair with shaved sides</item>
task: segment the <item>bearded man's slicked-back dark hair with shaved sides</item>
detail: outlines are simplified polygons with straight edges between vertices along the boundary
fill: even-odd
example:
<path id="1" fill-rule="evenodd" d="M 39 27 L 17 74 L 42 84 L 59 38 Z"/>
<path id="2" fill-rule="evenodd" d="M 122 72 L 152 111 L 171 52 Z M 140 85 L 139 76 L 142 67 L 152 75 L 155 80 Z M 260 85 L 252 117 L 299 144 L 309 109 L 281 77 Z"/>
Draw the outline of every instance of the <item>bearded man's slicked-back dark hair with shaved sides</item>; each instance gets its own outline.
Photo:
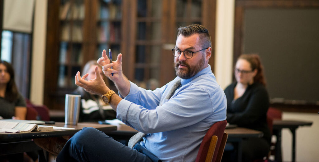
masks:
<path id="1" fill-rule="evenodd" d="M 202 48 L 211 47 L 211 36 L 209 35 L 208 30 L 199 24 L 192 24 L 185 27 L 179 27 L 177 29 L 177 37 L 182 35 L 184 37 L 189 37 L 193 34 L 199 34 L 200 45 Z"/>

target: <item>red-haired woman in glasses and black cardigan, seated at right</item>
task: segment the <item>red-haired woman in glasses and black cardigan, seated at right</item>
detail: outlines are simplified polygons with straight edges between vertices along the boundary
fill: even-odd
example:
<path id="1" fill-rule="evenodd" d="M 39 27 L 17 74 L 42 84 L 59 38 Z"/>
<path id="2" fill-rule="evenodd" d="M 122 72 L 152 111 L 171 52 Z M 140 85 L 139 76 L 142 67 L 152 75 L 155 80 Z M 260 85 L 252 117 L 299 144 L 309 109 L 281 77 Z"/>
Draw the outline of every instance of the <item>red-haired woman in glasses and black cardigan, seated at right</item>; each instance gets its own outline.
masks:
<path id="1" fill-rule="evenodd" d="M 263 138 L 249 138 L 242 144 L 243 161 L 263 159 L 270 149 L 271 134 L 266 121 L 269 97 L 259 56 L 241 55 L 235 65 L 235 78 L 236 82 L 225 89 L 227 122 L 263 132 Z M 223 161 L 227 152 L 224 155 Z"/>

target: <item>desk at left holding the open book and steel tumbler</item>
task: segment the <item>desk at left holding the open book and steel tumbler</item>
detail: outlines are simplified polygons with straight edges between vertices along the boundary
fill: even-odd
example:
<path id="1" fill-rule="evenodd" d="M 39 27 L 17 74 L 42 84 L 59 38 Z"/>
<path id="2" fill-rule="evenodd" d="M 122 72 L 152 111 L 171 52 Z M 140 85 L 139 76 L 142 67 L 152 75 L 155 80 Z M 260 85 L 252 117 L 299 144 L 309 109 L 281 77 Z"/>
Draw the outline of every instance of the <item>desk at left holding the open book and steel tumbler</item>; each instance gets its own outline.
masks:
<path id="1" fill-rule="evenodd" d="M 28 132 L 28 133 L 1 133 L 0 132 L 0 155 L 42 150 L 31 139 L 72 136 L 76 132 L 82 130 L 83 127 L 93 127 L 104 133 L 116 130 L 116 126 L 114 125 L 100 125 L 97 123 L 78 123 L 78 125 L 64 125 L 64 123 L 62 122 L 56 122 L 56 124 L 53 124 L 51 126 L 68 127 L 68 128 L 75 128 L 75 129 Z M 41 155 L 41 153 L 40 153 L 40 159 L 41 160 L 45 159 L 43 154 Z"/>

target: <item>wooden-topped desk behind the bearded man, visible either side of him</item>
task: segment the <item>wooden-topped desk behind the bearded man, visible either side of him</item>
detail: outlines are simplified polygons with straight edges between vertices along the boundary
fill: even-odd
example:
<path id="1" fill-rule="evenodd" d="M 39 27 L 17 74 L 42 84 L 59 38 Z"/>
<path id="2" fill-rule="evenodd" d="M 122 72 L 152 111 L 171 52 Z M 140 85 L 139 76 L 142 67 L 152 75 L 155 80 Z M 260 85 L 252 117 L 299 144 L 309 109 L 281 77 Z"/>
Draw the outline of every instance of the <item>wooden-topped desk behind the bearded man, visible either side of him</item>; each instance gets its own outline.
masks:
<path id="1" fill-rule="evenodd" d="M 127 125 L 118 125 L 116 131 L 111 131 L 106 133 L 108 136 L 111 136 L 113 138 L 117 139 L 125 139 L 129 140 L 134 134 L 136 134 L 138 131 L 131 128 Z M 238 148 L 238 161 L 241 162 L 242 157 L 242 148 L 241 148 L 241 142 L 244 138 L 251 138 L 251 137 L 263 137 L 263 132 L 248 129 L 248 128 L 227 128 L 225 129 L 225 132 L 228 133 L 228 139 L 227 142 L 234 142 L 237 143 Z"/>

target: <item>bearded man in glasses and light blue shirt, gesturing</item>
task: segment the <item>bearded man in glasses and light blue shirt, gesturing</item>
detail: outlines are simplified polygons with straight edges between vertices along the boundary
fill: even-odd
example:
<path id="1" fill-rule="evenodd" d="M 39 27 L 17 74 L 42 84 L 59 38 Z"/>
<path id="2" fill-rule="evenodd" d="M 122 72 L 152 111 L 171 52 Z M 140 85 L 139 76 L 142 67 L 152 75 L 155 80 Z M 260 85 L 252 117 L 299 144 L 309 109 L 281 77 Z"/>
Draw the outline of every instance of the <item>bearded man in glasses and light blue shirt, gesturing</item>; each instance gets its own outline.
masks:
<path id="1" fill-rule="evenodd" d="M 177 77 L 154 91 L 130 82 L 122 72 L 122 54 L 110 64 L 105 50 L 98 63 L 120 96 L 105 85 L 100 75 L 86 81 L 87 74 L 81 78 L 78 72 L 75 78 L 78 86 L 103 96 L 123 123 L 146 133 L 144 141 L 135 146 L 154 156 L 122 145 L 94 128 L 83 128 L 67 141 L 57 161 L 150 162 L 152 157 L 195 161 L 207 130 L 226 119 L 226 96 L 208 64 L 211 38 L 204 26 L 180 27 L 172 51 Z M 99 73 L 97 66 L 95 72 Z"/>

